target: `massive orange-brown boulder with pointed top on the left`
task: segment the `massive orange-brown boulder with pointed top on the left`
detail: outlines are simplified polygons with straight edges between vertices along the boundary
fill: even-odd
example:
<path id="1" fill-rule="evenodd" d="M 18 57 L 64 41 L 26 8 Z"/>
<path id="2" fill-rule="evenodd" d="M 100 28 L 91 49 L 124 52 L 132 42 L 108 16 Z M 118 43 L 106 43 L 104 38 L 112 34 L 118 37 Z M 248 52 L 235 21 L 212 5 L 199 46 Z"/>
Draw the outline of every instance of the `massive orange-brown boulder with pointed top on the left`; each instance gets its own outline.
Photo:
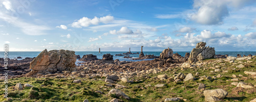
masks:
<path id="1" fill-rule="evenodd" d="M 70 70 L 75 67 L 76 55 L 72 50 L 43 50 L 32 62 L 30 62 L 31 71 L 26 77 L 36 77 L 36 73 L 51 74 L 57 70 Z"/>

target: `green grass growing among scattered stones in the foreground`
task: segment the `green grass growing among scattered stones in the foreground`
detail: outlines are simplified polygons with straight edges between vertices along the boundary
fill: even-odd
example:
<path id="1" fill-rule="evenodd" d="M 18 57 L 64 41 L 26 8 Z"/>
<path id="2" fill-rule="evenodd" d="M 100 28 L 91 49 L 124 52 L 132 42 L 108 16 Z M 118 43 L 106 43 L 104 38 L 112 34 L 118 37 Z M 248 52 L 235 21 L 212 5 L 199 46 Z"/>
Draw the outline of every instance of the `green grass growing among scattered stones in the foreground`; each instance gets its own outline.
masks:
<path id="1" fill-rule="evenodd" d="M 204 61 L 214 62 L 219 59 L 207 59 Z M 172 80 L 158 80 L 153 79 L 152 77 L 156 77 L 159 74 L 166 74 L 169 77 L 172 77 L 174 71 L 164 71 L 159 72 L 157 74 L 148 74 L 151 79 L 144 79 L 142 77 L 134 77 L 135 80 L 141 80 L 141 82 L 135 83 L 124 83 L 124 82 L 116 82 L 119 85 L 127 86 L 127 88 L 120 89 L 126 95 L 130 97 L 130 100 L 126 100 L 122 97 L 117 97 L 115 94 L 106 95 L 108 92 L 114 87 L 106 87 L 105 82 L 98 81 L 99 79 L 104 78 L 96 78 L 94 79 L 86 79 L 86 78 L 76 78 L 80 79 L 82 83 L 72 83 L 74 79 L 71 78 L 15 78 L 9 80 L 9 94 L 8 96 L 12 98 L 13 101 L 83 101 L 84 99 L 88 99 L 89 101 L 110 101 L 113 98 L 119 98 L 123 101 L 164 101 L 165 98 L 172 97 L 183 97 L 187 99 L 187 101 L 205 101 L 203 91 L 198 90 L 198 83 L 203 83 L 206 85 L 206 90 L 210 89 L 224 89 L 229 94 L 224 101 L 250 101 L 256 97 L 255 91 L 252 93 L 239 92 L 238 94 L 233 94 L 233 88 L 236 86 L 231 85 L 232 74 L 244 75 L 246 78 L 238 77 L 240 81 L 245 83 L 251 83 L 252 85 L 256 84 L 256 79 L 249 77 L 244 74 L 244 71 L 256 70 L 256 62 L 255 59 L 252 59 L 252 63 L 243 64 L 245 68 L 236 68 L 240 63 L 229 63 L 222 61 L 215 65 L 206 64 L 201 68 L 196 67 L 195 69 L 185 69 L 180 70 L 180 68 L 173 69 L 176 73 L 182 72 L 184 74 L 192 73 L 195 77 L 196 72 L 199 72 L 200 76 L 206 75 L 207 77 L 217 76 L 221 74 L 221 78 L 217 78 L 216 80 L 202 80 L 199 81 L 199 77 L 195 77 L 195 81 L 186 81 L 175 83 Z M 246 61 L 242 61 L 246 62 Z M 216 65 L 221 66 L 220 72 L 210 73 L 210 71 L 214 71 L 214 69 L 210 69 L 210 67 L 215 67 Z M 233 66 L 232 66 L 233 65 Z M 233 68 L 236 68 L 233 70 Z M 223 73 L 223 71 L 228 71 Z M 131 79 L 130 79 L 131 80 Z M 0 92 L 4 92 L 4 81 L 0 80 L 2 89 Z M 17 83 L 22 83 L 23 85 L 28 83 L 33 85 L 32 88 L 24 88 L 23 90 L 16 90 L 13 86 Z M 164 87 L 156 88 L 154 87 L 157 84 L 164 84 Z M 146 85 L 152 85 L 150 87 L 145 88 Z M 103 86 L 103 87 L 102 87 Z M 142 88 L 143 87 L 143 88 Z M 95 93 L 95 91 L 100 90 L 103 94 Z M 255 90 L 255 89 L 254 89 Z M 248 90 L 247 90 L 248 91 Z M 3 96 L 0 97 L 0 101 L 5 100 Z M 181 100 L 183 101 L 183 100 Z"/>

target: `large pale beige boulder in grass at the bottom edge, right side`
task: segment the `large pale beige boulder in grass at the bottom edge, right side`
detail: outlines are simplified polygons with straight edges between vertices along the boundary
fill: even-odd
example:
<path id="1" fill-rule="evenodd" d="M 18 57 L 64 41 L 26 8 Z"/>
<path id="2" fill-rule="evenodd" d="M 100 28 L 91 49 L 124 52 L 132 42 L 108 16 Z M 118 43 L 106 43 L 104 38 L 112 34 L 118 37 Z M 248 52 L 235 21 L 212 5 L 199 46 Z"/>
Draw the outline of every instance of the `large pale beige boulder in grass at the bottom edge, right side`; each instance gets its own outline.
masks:
<path id="1" fill-rule="evenodd" d="M 205 101 L 220 101 L 227 96 L 228 92 L 223 89 L 205 90 Z"/>

